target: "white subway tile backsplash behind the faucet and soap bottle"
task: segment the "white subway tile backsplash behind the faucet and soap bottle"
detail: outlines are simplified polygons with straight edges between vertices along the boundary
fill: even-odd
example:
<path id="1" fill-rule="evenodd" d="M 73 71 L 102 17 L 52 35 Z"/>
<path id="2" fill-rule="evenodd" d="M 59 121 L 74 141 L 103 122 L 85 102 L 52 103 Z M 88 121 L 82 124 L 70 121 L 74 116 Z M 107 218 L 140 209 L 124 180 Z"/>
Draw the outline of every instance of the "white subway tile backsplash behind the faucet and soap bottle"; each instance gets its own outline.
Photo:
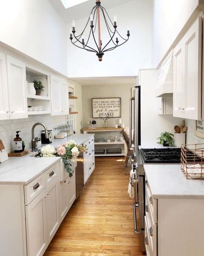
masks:
<path id="1" fill-rule="evenodd" d="M 31 128 L 37 122 L 42 122 L 47 126 L 48 130 L 53 130 L 54 135 L 54 128 L 57 125 L 65 124 L 65 115 L 33 115 L 24 119 L 0 120 L 0 139 L 3 141 L 6 152 L 9 153 L 13 151 L 13 139 L 15 138 L 16 131 L 21 131 L 19 135 L 25 142 L 25 149 L 30 148 Z M 36 126 L 34 131 L 35 137 L 41 138 L 42 130 L 43 127 L 41 125 Z"/>

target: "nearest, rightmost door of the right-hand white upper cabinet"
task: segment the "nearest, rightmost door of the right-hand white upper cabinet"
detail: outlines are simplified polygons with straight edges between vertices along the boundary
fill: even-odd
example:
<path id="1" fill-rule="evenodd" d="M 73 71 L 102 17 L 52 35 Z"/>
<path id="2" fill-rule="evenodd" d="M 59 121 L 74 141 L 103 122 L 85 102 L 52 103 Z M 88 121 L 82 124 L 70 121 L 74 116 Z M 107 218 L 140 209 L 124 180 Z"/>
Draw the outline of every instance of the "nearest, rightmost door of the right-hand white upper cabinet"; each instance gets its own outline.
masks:
<path id="1" fill-rule="evenodd" d="M 185 34 L 185 112 L 184 118 L 201 119 L 202 18 Z"/>

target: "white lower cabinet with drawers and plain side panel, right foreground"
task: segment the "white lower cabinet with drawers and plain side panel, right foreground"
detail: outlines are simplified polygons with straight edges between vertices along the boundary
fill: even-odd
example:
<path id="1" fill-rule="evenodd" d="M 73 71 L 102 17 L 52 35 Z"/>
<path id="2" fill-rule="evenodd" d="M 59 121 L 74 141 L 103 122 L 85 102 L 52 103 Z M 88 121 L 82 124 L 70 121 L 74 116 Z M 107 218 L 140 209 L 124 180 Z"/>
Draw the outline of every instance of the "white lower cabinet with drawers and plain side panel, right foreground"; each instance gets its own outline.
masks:
<path id="1" fill-rule="evenodd" d="M 203 199 L 152 198 L 151 184 L 146 179 L 146 255 L 203 255 L 203 212 Z"/>

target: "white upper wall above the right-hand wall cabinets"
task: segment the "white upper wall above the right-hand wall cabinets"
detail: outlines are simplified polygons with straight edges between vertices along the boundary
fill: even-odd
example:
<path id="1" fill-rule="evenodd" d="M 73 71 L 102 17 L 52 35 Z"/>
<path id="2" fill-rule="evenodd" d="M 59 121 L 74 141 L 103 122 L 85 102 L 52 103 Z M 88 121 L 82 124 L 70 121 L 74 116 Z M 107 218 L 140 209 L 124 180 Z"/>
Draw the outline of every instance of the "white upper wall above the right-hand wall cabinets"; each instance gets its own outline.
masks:
<path id="1" fill-rule="evenodd" d="M 199 0 L 153 0 L 152 67 L 158 66 Z"/>

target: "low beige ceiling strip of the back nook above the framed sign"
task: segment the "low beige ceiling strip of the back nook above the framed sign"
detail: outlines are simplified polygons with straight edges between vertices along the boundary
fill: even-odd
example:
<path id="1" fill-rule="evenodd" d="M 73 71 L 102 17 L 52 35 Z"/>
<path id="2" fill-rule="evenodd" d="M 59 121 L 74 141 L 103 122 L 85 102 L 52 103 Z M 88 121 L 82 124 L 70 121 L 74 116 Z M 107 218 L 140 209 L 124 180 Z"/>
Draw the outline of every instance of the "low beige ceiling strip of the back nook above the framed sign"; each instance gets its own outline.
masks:
<path id="1" fill-rule="evenodd" d="M 69 78 L 80 85 L 133 85 L 136 86 L 136 77 L 80 77 Z"/>

